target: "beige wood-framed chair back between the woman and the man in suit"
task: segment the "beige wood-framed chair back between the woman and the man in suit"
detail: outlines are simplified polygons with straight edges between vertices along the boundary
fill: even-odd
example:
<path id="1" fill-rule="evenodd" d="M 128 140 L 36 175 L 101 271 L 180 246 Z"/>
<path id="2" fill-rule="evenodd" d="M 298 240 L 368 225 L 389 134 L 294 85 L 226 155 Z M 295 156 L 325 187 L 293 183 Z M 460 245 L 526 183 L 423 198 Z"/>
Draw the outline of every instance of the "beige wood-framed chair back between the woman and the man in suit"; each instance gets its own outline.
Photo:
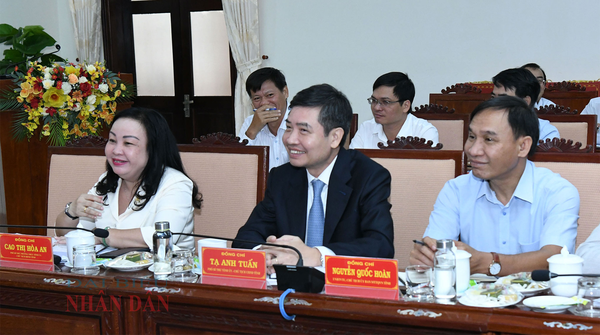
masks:
<path id="1" fill-rule="evenodd" d="M 194 210 L 194 232 L 235 238 L 265 195 L 269 147 L 178 145 L 185 172 L 202 193 Z M 228 244 L 231 246 L 231 243 Z"/>

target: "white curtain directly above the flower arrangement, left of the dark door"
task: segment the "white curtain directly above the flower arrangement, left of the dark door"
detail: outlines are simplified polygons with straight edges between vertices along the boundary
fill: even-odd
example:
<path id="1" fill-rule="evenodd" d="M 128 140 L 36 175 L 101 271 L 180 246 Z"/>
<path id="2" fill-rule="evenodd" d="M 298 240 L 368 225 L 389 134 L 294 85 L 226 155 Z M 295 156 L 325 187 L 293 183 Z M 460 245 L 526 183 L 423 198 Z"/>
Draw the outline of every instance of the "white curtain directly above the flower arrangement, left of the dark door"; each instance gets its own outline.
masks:
<path id="1" fill-rule="evenodd" d="M 80 62 L 104 61 L 101 0 L 68 0 L 73 17 L 75 47 Z M 75 62 L 75 59 L 69 59 Z"/>

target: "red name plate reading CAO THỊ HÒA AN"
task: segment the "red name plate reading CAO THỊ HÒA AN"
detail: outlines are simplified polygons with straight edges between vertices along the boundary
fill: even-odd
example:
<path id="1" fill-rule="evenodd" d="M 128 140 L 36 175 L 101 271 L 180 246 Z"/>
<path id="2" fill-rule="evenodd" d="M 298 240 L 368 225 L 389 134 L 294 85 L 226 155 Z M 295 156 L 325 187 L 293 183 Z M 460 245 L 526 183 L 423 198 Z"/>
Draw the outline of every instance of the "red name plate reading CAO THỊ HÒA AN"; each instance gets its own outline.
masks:
<path id="1" fill-rule="evenodd" d="M 52 238 L 0 234 L 0 266 L 52 271 Z"/>

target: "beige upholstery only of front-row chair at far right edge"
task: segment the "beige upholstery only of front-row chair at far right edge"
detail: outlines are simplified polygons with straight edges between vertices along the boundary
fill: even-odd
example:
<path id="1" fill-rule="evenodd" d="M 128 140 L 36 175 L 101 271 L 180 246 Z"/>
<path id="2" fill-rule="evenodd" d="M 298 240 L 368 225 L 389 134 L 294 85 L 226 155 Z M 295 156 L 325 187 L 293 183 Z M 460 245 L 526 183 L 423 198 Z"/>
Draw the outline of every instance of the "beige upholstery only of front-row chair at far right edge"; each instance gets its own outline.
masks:
<path id="1" fill-rule="evenodd" d="M 560 131 L 560 130 L 559 130 Z M 560 134 L 562 136 L 562 133 Z M 539 154 L 536 154 L 538 156 Z M 560 155 L 560 153 L 559 153 Z M 562 154 L 566 155 L 566 154 Z M 575 154 L 589 155 L 589 154 Z M 577 241 L 579 246 L 600 223 L 600 155 L 596 163 L 575 163 L 574 161 L 535 161 L 535 166 L 546 167 L 560 177 L 565 178 L 579 191 L 580 206 L 577 226 Z M 535 158 L 533 158 L 535 160 Z M 576 158 L 575 158 L 576 159 Z"/>

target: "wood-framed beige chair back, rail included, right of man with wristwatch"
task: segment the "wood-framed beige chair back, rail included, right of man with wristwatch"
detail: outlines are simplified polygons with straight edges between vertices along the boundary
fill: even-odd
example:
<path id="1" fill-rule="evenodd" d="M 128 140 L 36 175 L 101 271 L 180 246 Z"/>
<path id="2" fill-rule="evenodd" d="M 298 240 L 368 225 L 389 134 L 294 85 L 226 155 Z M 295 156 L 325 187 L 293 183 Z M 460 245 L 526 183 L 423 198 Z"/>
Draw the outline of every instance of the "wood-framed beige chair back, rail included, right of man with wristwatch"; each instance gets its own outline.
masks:
<path id="1" fill-rule="evenodd" d="M 577 187 L 580 207 L 575 247 L 579 246 L 600 223 L 600 154 L 537 152 L 530 160 Z"/>

